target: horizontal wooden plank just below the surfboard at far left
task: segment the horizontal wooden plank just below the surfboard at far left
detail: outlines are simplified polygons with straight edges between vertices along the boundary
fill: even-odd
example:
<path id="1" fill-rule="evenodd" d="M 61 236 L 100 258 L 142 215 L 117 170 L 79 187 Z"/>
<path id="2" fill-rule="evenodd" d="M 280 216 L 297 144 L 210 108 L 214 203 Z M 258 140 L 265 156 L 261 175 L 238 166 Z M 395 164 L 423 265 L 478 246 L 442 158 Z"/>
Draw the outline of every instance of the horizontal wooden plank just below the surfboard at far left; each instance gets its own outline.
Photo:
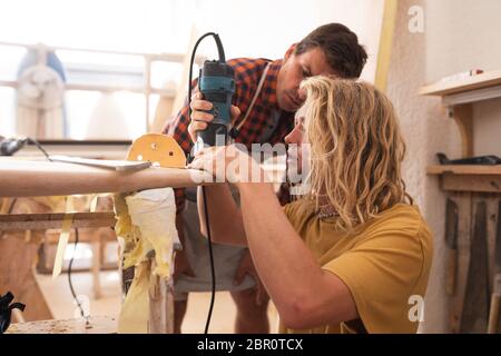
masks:
<path id="1" fill-rule="evenodd" d="M 46 230 L 62 226 L 65 216 L 72 215 L 71 228 L 91 228 L 115 226 L 115 212 L 52 212 L 52 214 L 9 214 L 0 215 L 0 231 Z"/>

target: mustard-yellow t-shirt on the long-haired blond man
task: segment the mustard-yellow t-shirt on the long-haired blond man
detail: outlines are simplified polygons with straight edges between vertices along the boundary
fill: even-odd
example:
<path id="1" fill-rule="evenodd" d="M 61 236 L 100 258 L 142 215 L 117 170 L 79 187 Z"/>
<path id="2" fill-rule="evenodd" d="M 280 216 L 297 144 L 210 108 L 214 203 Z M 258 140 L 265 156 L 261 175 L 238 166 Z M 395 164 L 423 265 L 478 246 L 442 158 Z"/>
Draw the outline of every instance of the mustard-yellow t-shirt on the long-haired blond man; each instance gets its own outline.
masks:
<path id="1" fill-rule="evenodd" d="M 347 235 L 336 217 L 320 218 L 311 205 L 284 207 L 295 230 L 325 270 L 348 287 L 360 319 L 281 333 L 415 333 L 415 300 L 424 298 L 432 261 L 432 236 L 416 206 L 397 204 Z M 411 299 L 410 299 L 411 298 Z M 413 308 L 414 307 L 414 308 Z"/>

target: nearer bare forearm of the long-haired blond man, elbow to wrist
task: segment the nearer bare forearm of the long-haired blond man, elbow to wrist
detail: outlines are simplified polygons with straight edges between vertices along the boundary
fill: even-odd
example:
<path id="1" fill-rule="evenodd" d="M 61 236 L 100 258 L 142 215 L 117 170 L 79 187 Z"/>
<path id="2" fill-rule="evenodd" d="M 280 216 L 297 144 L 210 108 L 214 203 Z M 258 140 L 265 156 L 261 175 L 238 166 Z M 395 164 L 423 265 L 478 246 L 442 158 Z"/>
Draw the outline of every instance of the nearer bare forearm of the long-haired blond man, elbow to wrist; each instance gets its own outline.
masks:
<path id="1" fill-rule="evenodd" d="M 284 324 L 310 328 L 356 319 L 344 283 L 321 268 L 283 212 L 269 184 L 239 185 L 248 246 Z"/>

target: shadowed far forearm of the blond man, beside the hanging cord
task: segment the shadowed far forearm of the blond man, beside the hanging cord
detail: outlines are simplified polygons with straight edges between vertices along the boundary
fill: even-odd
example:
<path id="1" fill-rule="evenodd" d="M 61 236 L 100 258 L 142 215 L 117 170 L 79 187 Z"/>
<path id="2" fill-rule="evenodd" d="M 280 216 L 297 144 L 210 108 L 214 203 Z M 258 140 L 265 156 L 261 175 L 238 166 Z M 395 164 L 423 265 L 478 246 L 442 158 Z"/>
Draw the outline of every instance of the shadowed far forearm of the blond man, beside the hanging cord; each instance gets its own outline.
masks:
<path id="1" fill-rule="evenodd" d="M 235 204 L 227 184 L 206 186 L 207 208 L 209 211 L 210 237 L 216 243 L 247 245 L 240 209 Z M 202 187 L 197 194 L 200 231 L 207 236 Z"/>

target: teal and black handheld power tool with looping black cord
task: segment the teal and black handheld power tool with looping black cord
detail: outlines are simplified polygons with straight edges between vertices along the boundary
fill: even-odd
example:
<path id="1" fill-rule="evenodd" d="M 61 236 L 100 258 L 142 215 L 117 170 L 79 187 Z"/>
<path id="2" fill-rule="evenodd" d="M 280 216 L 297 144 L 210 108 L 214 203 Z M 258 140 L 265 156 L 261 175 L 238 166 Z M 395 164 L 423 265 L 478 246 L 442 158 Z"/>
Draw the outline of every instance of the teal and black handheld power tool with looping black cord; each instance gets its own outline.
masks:
<path id="1" fill-rule="evenodd" d="M 205 130 L 197 132 L 195 152 L 206 146 L 226 146 L 228 142 L 228 135 L 233 135 L 229 130 L 229 125 L 232 119 L 232 98 L 235 92 L 235 72 L 233 68 L 226 63 L 223 43 L 220 42 L 219 36 L 216 33 L 206 33 L 195 43 L 189 67 L 188 100 L 191 99 L 193 61 L 198 44 L 207 36 L 214 37 L 219 60 L 206 60 L 204 62 L 198 77 L 198 88 L 204 96 L 204 100 L 213 103 L 213 109 L 207 112 L 214 116 L 214 120 Z M 189 109 L 189 116 L 191 116 L 191 109 Z"/>

